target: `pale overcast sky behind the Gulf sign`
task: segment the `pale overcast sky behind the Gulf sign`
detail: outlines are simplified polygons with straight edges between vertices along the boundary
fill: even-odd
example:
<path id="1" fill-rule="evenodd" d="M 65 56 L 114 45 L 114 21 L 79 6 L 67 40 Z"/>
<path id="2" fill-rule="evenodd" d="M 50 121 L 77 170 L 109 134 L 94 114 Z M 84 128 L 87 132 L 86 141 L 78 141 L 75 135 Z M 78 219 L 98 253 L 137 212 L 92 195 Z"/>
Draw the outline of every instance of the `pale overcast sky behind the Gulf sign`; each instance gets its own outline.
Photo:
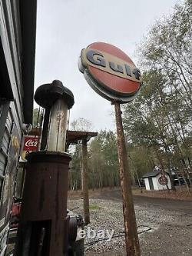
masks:
<path id="1" fill-rule="evenodd" d="M 38 0 L 35 88 L 59 79 L 74 94 L 70 121 L 86 118 L 94 130 L 115 130 L 110 101 L 97 95 L 78 71 L 82 48 L 108 42 L 134 52 L 155 20 L 177 0 Z M 36 105 L 37 107 L 37 105 Z"/>

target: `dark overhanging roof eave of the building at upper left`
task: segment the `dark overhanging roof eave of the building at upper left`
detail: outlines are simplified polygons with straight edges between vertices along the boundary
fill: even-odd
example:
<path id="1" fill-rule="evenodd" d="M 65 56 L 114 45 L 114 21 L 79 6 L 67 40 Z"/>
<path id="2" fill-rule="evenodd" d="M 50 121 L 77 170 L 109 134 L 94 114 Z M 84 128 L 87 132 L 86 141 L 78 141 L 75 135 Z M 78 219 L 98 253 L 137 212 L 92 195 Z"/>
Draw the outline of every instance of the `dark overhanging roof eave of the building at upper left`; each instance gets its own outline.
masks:
<path id="1" fill-rule="evenodd" d="M 37 0 L 20 1 L 22 32 L 22 83 L 25 123 L 32 123 Z"/>

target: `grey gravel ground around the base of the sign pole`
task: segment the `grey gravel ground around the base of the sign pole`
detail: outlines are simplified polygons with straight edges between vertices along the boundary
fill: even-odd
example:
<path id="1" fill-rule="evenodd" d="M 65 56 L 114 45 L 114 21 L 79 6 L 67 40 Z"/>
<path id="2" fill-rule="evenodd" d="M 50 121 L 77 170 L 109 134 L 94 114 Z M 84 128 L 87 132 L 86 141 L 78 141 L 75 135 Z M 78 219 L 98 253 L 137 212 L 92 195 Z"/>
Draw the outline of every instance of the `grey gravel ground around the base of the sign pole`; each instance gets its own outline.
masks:
<path id="1" fill-rule="evenodd" d="M 83 214 L 81 199 L 68 200 L 68 208 L 79 206 L 74 212 Z M 99 241 L 98 238 L 85 238 L 85 251 L 88 256 L 126 255 L 124 248 L 124 224 L 121 201 L 111 199 L 90 199 L 91 224 L 88 228 L 99 230 L 114 229 L 111 241 Z M 192 212 L 168 211 L 152 204 L 135 204 L 142 256 L 191 256 L 192 255 Z M 107 234 L 106 234 L 107 236 Z M 106 237 L 105 236 L 105 237 Z"/>

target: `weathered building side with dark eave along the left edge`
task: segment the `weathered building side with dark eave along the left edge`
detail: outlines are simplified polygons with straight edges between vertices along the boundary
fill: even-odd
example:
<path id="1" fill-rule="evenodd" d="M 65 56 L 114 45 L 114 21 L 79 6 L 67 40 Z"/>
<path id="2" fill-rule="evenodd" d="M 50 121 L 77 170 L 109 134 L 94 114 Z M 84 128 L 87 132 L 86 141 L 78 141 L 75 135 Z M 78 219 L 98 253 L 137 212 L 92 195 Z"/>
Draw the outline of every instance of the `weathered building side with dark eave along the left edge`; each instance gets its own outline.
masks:
<path id="1" fill-rule="evenodd" d="M 24 124 L 32 123 L 36 0 L 0 0 L 0 256 L 5 254 Z"/>

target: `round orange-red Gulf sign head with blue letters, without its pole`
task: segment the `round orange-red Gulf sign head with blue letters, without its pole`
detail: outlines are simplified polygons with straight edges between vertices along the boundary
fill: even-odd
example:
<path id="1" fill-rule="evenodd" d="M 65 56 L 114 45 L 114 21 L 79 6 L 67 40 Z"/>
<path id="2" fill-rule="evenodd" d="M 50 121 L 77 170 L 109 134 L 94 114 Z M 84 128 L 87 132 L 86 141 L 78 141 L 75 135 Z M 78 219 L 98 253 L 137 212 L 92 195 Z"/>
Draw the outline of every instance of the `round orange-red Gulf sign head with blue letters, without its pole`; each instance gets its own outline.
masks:
<path id="1" fill-rule="evenodd" d="M 104 42 L 88 45 L 81 51 L 78 67 L 91 88 L 110 101 L 132 101 L 141 88 L 141 72 L 114 45 Z"/>

